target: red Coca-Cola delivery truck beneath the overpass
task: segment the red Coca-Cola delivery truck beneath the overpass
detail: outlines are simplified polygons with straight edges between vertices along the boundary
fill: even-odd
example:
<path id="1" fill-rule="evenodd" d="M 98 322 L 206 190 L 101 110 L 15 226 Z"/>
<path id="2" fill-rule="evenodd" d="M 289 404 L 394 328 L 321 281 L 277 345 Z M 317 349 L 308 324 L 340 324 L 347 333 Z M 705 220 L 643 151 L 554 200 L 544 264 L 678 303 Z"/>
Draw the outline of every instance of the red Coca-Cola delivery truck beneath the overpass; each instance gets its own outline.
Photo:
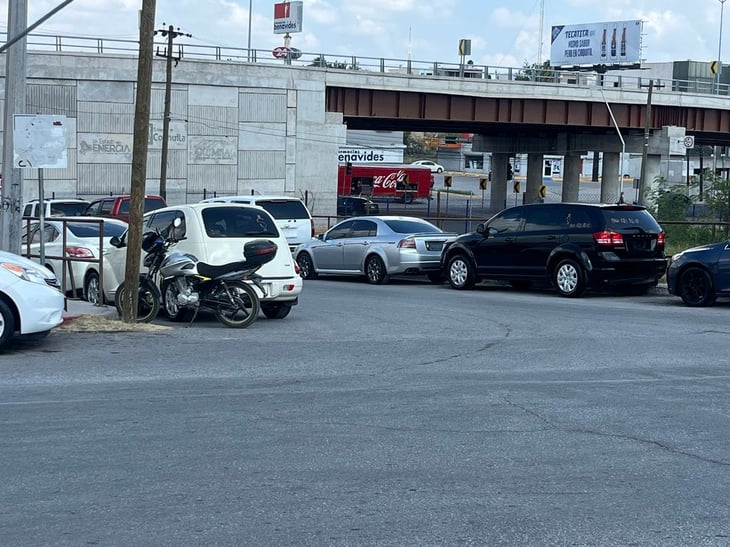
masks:
<path id="1" fill-rule="evenodd" d="M 433 176 L 428 167 L 413 165 L 340 165 L 337 195 L 390 197 L 404 203 L 431 195 Z"/>

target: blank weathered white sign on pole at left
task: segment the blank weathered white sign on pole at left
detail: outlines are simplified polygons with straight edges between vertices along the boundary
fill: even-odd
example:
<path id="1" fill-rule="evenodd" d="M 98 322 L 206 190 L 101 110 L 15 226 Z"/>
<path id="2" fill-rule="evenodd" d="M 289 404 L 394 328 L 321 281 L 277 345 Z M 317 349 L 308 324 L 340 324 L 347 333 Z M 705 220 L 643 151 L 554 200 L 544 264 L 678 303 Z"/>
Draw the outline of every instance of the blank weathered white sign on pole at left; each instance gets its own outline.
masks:
<path id="1" fill-rule="evenodd" d="M 13 117 L 13 166 L 64 169 L 68 161 L 66 116 L 16 114 Z"/>

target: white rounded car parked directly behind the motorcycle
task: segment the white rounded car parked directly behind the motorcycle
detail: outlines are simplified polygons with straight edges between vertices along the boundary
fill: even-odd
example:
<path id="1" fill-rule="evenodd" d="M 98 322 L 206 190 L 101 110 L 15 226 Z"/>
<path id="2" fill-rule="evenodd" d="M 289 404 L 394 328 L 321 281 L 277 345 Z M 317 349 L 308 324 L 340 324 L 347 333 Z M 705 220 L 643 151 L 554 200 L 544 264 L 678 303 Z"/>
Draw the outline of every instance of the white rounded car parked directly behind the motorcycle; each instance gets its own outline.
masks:
<path id="1" fill-rule="evenodd" d="M 178 227 L 175 219 L 181 220 Z M 276 256 L 264 264 L 258 274 L 263 277 L 266 296 L 261 311 L 270 319 L 283 319 L 299 301 L 302 278 L 286 238 L 272 216 L 262 207 L 239 203 L 194 203 L 157 209 L 144 216 L 143 232 L 159 231 L 178 239 L 174 250 L 190 253 L 208 264 L 227 264 L 243 260 L 243 246 L 254 239 L 269 239 L 277 244 Z M 112 241 L 117 247 L 106 259 L 114 271 L 114 280 L 124 280 L 126 233 Z M 164 281 L 160 290 L 165 294 Z M 164 308 L 164 302 L 163 308 Z"/>

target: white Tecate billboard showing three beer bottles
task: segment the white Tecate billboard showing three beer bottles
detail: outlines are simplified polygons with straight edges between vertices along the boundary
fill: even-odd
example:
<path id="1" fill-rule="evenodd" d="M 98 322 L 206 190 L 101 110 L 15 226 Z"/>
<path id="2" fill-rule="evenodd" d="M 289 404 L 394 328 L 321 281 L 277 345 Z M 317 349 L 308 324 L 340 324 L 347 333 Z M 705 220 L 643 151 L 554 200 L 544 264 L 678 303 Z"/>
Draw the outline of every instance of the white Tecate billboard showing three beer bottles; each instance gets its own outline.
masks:
<path id="1" fill-rule="evenodd" d="M 554 26 L 550 66 L 638 63 L 641 21 Z"/>

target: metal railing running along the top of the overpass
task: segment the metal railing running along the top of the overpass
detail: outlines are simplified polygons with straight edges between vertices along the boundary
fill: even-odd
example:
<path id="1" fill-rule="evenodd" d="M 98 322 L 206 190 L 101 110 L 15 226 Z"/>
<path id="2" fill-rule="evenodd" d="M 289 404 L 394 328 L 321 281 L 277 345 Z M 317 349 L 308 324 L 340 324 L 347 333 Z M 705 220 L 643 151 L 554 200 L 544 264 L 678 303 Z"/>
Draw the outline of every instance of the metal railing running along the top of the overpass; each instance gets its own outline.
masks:
<path id="1" fill-rule="evenodd" d="M 6 33 L 0 38 L 7 39 Z M 30 34 L 27 38 L 29 51 L 81 52 L 90 54 L 136 55 L 136 40 L 120 40 L 100 37 Z M 464 80 L 513 81 L 520 83 L 559 84 L 581 87 L 610 87 L 620 89 L 646 88 L 648 76 L 623 75 L 617 71 L 598 74 L 587 71 L 555 70 L 526 67 L 502 67 L 421 61 L 386 57 L 338 55 L 320 52 L 297 51 L 296 58 L 277 59 L 271 50 L 246 49 L 226 46 L 177 43 L 175 54 L 182 58 L 209 61 L 236 61 L 267 65 L 291 65 L 320 67 L 324 70 L 354 70 L 383 74 L 403 74 L 422 78 L 460 78 Z M 157 41 L 155 47 L 164 51 L 165 41 Z M 162 58 L 162 57 L 161 57 Z M 730 85 L 716 84 L 708 77 L 695 80 L 653 78 L 657 89 L 663 92 L 730 95 Z"/>

